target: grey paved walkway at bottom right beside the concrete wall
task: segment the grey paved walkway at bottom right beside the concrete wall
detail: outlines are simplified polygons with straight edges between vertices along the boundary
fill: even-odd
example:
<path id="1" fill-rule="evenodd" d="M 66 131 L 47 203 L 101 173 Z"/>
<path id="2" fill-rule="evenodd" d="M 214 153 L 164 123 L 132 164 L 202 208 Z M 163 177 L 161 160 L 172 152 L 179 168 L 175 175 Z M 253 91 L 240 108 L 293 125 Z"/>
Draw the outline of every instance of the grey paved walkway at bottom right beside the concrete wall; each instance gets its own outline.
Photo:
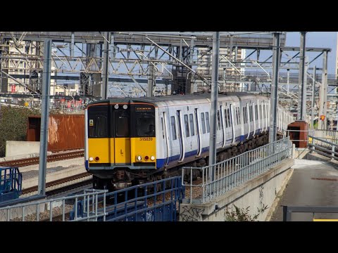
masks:
<path id="1" fill-rule="evenodd" d="M 338 207 L 338 163 L 294 160 L 294 173 L 270 221 L 282 221 L 281 205 Z M 315 219 L 338 219 L 338 214 L 315 214 Z M 292 221 L 313 221 L 311 213 L 292 213 Z"/>

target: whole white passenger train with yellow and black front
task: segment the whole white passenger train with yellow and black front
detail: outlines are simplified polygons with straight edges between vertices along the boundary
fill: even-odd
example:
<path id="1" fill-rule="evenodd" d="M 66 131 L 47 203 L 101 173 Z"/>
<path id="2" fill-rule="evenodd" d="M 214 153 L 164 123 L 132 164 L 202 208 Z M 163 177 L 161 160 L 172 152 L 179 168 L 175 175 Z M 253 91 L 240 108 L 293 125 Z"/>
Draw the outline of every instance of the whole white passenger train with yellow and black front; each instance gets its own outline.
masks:
<path id="1" fill-rule="evenodd" d="M 93 187 L 111 191 L 178 175 L 184 166 L 206 166 L 210 97 L 196 93 L 89 103 L 84 164 L 93 174 Z M 267 96 L 219 93 L 215 116 L 217 162 L 268 143 Z M 277 138 L 291 122 L 292 115 L 277 105 Z"/>

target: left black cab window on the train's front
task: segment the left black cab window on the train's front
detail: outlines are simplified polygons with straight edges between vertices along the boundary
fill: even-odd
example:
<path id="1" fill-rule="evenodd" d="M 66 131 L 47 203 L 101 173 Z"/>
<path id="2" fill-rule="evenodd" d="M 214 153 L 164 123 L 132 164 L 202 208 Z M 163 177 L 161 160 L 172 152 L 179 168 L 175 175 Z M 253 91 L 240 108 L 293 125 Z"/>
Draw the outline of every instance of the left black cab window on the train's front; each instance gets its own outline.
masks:
<path id="1" fill-rule="evenodd" d="M 88 137 L 108 138 L 108 106 L 96 105 L 88 108 Z"/>

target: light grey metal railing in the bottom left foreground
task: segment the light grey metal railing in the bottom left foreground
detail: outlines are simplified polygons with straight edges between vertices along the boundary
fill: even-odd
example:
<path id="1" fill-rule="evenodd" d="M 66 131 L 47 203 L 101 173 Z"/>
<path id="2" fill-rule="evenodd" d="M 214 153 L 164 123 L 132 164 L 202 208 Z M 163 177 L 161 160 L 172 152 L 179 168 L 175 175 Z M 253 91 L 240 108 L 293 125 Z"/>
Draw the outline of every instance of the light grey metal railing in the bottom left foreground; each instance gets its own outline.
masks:
<path id="1" fill-rule="evenodd" d="M 77 216 L 77 205 L 75 205 L 74 220 L 97 221 L 106 215 L 106 208 L 99 209 L 97 205 L 98 196 L 103 196 L 105 200 L 106 192 L 107 190 L 84 190 L 84 193 L 79 195 L 2 207 L 0 221 L 66 221 L 70 210 L 78 200 L 83 200 L 82 208 L 86 211 L 86 216 Z"/>

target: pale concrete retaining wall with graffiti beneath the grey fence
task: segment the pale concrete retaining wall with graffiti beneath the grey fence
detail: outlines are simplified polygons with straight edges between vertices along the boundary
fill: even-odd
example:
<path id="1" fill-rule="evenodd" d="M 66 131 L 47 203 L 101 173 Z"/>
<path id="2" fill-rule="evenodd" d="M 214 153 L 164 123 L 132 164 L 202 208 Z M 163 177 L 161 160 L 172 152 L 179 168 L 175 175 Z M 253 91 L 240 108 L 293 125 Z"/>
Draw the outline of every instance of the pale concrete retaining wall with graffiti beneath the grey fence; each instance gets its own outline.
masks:
<path id="1" fill-rule="evenodd" d="M 233 205 L 246 209 L 249 207 L 249 215 L 258 214 L 257 209 L 268 206 L 265 212 L 260 214 L 258 221 L 269 219 L 276 206 L 276 197 L 280 195 L 292 174 L 294 160 L 287 159 L 277 167 L 270 169 L 256 179 L 237 186 L 223 196 L 217 197 L 213 202 L 206 204 L 181 204 L 180 221 L 225 221 L 226 210 L 234 209 Z"/>

